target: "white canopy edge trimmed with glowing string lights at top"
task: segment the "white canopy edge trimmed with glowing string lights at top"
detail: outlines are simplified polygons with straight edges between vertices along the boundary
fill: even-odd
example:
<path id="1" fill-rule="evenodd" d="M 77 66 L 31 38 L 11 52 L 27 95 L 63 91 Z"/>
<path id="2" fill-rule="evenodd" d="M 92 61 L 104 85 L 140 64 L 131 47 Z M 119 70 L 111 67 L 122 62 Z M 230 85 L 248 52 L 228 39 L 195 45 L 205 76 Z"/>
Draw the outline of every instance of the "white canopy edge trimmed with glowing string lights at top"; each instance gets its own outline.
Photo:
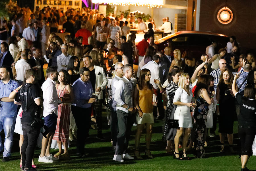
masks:
<path id="1" fill-rule="evenodd" d="M 133 6 L 146 6 L 148 8 L 162 8 L 163 0 L 92 0 L 92 3 L 107 3 L 110 5 L 133 5 Z"/>

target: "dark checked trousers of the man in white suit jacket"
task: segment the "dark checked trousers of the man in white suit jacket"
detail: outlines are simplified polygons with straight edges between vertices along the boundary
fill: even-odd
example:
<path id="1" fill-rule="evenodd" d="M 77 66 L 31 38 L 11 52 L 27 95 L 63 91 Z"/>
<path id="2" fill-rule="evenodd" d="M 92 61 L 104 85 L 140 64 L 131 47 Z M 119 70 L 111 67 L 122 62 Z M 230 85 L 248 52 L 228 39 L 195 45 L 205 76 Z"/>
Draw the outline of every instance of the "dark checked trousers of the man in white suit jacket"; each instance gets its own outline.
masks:
<path id="1" fill-rule="evenodd" d="M 95 103 L 93 103 L 94 107 L 94 117 L 96 117 L 96 123 L 98 127 L 97 135 L 102 136 L 102 99 L 98 99 Z"/>

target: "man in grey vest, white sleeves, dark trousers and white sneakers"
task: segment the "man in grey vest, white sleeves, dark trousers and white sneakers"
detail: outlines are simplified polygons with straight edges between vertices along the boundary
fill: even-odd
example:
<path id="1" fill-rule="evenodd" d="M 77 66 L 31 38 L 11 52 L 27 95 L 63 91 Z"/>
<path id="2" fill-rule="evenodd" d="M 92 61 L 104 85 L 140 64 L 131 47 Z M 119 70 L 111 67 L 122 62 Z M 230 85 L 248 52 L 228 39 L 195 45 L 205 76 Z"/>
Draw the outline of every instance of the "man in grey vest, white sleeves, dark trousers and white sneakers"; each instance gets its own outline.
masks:
<path id="1" fill-rule="evenodd" d="M 117 143 L 113 160 L 123 162 L 123 159 L 134 159 L 126 153 L 131 132 L 131 112 L 133 112 L 133 66 L 126 64 L 123 67 L 124 76 L 116 84 L 115 101 L 118 121 Z"/>

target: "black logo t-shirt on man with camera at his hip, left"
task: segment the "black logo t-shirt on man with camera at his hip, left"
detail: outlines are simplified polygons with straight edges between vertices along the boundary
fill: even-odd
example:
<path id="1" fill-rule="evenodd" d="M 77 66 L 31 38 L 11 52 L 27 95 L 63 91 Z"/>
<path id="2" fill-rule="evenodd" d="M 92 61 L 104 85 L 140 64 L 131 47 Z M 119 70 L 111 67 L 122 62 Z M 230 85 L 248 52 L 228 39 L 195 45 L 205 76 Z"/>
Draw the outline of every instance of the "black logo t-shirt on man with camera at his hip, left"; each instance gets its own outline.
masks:
<path id="1" fill-rule="evenodd" d="M 35 111 L 38 111 L 37 116 L 40 117 L 40 106 L 35 103 L 35 99 L 40 98 L 40 88 L 34 84 L 23 84 L 15 98 L 16 102 L 21 102 L 23 110 L 21 122 L 32 122 L 35 120 Z"/>

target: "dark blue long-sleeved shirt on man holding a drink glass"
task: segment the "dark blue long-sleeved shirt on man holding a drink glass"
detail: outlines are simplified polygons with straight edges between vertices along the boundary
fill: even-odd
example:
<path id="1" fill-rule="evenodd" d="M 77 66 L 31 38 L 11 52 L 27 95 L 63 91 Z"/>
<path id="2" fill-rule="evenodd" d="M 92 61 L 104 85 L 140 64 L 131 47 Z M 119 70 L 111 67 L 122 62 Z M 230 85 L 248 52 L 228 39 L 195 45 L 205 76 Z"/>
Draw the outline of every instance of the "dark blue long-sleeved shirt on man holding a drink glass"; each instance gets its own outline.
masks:
<path id="1" fill-rule="evenodd" d="M 91 107 L 91 103 L 84 103 L 84 100 L 89 100 L 92 96 L 93 89 L 92 89 L 92 83 L 90 81 L 88 82 L 83 82 L 81 77 L 77 79 L 73 83 L 73 91 L 74 91 L 74 96 L 75 100 L 72 105 L 78 106 L 81 108 L 88 108 Z"/>

